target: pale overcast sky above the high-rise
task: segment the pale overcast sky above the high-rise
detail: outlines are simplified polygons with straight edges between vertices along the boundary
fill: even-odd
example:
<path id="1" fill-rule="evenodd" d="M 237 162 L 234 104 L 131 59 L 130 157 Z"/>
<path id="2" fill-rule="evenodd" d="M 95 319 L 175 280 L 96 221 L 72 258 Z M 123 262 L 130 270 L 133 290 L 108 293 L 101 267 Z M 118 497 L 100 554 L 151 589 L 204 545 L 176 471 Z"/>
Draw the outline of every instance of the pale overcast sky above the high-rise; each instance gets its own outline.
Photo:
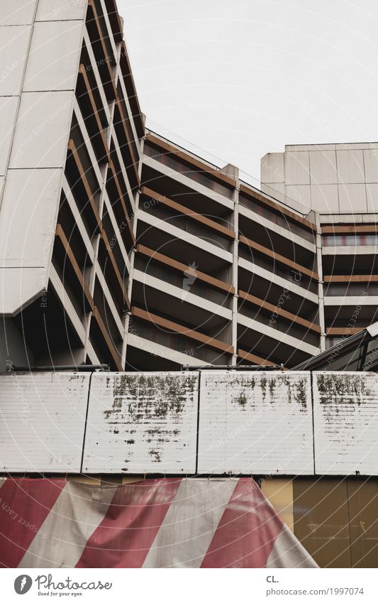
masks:
<path id="1" fill-rule="evenodd" d="M 285 144 L 378 140 L 377 0 L 118 9 L 148 126 L 209 161 L 260 178 Z"/>

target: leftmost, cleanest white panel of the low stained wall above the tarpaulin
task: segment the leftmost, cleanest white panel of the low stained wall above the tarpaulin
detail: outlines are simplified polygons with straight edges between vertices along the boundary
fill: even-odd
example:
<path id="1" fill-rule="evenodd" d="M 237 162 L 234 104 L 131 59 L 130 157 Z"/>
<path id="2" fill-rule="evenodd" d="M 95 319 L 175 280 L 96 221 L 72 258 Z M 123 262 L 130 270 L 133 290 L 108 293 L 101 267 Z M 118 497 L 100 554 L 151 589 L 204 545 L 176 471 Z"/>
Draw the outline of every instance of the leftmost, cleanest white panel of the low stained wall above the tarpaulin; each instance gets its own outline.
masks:
<path id="1" fill-rule="evenodd" d="M 0 465 L 8 472 L 79 472 L 89 374 L 0 376 Z"/>

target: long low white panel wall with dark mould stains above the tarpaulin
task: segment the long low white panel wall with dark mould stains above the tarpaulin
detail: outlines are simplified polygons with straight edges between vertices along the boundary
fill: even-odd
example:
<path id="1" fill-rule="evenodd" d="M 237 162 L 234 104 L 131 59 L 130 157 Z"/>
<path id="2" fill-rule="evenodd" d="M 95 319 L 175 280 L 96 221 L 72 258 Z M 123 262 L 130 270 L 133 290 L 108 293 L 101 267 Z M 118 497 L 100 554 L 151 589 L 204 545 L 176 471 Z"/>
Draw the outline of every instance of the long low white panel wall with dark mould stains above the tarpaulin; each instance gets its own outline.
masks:
<path id="1" fill-rule="evenodd" d="M 375 373 L 3 374 L 0 465 L 8 472 L 378 475 L 377 405 Z"/>

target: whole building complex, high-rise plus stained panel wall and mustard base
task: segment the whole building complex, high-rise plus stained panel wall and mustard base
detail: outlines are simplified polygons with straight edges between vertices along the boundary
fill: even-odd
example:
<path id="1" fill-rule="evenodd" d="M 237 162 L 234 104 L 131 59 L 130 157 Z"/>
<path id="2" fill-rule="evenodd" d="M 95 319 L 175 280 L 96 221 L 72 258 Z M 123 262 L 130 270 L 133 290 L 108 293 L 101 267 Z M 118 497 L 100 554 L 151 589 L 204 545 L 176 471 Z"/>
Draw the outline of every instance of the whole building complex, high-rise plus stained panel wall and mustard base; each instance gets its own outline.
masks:
<path id="1" fill-rule="evenodd" d="M 0 371 L 112 370 L 2 374 L 4 475 L 253 475 L 319 565 L 374 567 L 378 146 L 257 190 L 145 130 L 113 0 L 3 0 L 0 36 Z"/>

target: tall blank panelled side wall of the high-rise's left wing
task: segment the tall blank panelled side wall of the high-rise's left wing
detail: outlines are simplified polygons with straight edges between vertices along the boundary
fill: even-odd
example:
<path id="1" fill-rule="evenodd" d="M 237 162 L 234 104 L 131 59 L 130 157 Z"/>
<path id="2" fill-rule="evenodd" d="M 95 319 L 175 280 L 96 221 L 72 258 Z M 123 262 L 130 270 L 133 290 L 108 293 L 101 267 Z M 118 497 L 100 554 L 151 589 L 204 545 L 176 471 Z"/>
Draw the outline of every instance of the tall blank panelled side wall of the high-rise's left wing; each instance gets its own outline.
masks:
<path id="1" fill-rule="evenodd" d="M 38 297 L 48 269 L 86 3 L 0 7 L 0 313 Z"/>

